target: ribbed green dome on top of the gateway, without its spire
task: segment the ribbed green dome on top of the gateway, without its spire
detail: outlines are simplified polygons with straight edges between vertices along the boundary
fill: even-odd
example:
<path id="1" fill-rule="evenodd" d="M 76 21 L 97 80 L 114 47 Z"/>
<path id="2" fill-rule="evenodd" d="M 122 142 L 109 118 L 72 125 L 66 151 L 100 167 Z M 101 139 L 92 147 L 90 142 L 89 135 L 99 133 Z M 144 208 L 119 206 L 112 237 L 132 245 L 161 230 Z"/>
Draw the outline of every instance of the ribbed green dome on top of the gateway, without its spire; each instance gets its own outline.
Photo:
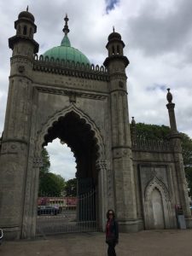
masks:
<path id="1" fill-rule="evenodd" d="M 79 49 L 75 49 L 71 46 L 67 35 L 62 39 L 60 46 L 45 51 L 44 57 L 46 56 L 48 56 L 49 59 L 53 57 L 55 60 L 59 59 L 64 61 L 74 61 L 75 63 L 90 64 L 88 58 Z"/>

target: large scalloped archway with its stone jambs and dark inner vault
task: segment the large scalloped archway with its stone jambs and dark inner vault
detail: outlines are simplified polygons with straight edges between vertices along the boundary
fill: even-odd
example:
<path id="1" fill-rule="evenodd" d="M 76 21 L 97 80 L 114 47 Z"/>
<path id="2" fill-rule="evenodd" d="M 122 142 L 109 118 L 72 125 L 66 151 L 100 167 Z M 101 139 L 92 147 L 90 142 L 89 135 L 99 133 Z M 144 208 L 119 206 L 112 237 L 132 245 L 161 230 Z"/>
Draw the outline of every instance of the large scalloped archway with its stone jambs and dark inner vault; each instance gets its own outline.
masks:
<path id="1" fill-rule="evenodd" d="M 94 216 L 97 221 L 99 230 L 104 229 L 106 205 L 105 199 L 105 182 L 106 182 L 106 162 L 104 159 L 104 143 L 100 131 L 88 115 L 83 113 L 73 104 L 68 108 L 55 113 L 44 123 L 41 131 L 38 131 L 35 150 L 33 151 L 32 175 L 34 176 L 34 187 L 29 183 L 26 184 L 26 190 L 30 189 L 30 205 L 25 204 L 23 218 L 22 237 L 35 236 L 36 233 L 36 216 L 38 201 L 38 176 L 39 167 L 41 166 L 41 151 L 44 146 L 59 138 L 61 142 L 67 143 L 72 149 L 77 163 L 78 193 L 84 194 L 89 189 L 97 188 L 96 209 Z M 29 198 L 26 198 L 29 201 Z M 28 221 L 32 216 L 31 222 Z M 80 218 L 84 218 L 81 216 Z"/>

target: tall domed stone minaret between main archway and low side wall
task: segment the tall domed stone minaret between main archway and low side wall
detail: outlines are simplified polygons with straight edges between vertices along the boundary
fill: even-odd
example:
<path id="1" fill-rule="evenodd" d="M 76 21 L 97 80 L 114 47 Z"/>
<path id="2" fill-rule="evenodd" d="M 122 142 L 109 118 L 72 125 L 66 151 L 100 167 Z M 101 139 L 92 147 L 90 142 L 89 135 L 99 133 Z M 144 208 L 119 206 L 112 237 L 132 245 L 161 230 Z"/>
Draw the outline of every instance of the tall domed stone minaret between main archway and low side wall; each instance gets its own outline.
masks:
<path id="1" fill-rule="evenodd" d="M 104 66 L 108 68 L 110 82 L 110 108 L 112 127 L 113 179 L 115 211 L 121 231 L 137 230 L 137 209 L 135 183 L 131 155 L 131 132 L 127 103 L 125 67 L 129 61 L 123 53 L 124 42 L 118 32 L 108 36 L 108 58 Z"/>

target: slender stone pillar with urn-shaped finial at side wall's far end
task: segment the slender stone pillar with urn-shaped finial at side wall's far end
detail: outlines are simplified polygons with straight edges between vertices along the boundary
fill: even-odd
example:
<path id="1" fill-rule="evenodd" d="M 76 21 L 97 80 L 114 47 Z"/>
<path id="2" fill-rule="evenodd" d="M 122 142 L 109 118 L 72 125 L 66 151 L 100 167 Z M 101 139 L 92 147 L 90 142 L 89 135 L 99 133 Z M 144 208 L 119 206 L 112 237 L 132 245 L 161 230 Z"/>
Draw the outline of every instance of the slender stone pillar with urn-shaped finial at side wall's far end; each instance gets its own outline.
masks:
<path id="1" fill-rule="evenodd" d="M 183 213 L 185 215 L 186 224 L 188 227 L 191 223 L 191 213 L 189 210 L 189 195 L 187 190 L 187 183 L 184 174 L 184 166 L 183 166 L 183 154 L 182 154 L 182 147 L 181 147 L 181 135 L 177 131 L 177 124 L 175 118 L 175 104 L 172 102 L 172 93 L 170 89 L 167 89 L 166 99 L 168 104 L 166 104 L 166 108 L 169 112 L 169 120 L 170 120 L 170 127 L 171 127 L 171 134 L 170 134 L 170 141 L 172 143 L 172 150 L 174 154 L 175 166 L 176 166 L 176 176 L 177 176 L 177 188 L 178 188 L 178 195 L 179 198 L 177 199 L 177 203 L 182 205 Z"/>

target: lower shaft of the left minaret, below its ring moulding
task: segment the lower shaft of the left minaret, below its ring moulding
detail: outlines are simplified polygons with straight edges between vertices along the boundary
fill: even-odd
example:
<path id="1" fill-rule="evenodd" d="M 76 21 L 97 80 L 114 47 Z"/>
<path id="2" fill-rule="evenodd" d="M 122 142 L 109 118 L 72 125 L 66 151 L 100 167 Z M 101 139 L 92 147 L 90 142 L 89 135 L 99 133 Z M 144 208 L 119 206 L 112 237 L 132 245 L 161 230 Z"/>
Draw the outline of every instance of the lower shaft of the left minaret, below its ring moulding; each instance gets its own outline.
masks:
<path id="1" fill-rule="evenodd" d="M 0 172 L 0 227 L 7 239 L 19 239 L 23 216 L 27 143 L 3 140 Z"/>

